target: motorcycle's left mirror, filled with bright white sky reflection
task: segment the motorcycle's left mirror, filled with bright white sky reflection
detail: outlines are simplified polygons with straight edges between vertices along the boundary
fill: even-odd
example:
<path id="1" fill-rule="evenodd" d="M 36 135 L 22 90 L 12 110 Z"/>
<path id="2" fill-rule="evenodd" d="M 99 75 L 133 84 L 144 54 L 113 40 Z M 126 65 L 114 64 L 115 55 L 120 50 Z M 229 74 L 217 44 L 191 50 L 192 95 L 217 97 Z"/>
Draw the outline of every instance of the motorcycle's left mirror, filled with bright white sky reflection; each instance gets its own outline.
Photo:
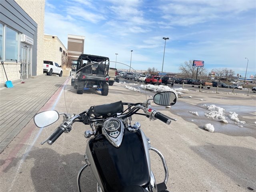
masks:
<path id="1" fill-rule="evenodd" d="M 49 110 L 49 111 L 44 111 L 36 114 L 34 116 L 34 122 L 37 127 L 43 128 L 43 127 L 49 126 L 50 124 L 53 124 L 59 118 L 60 118 L 60 115 L 58 111 Z"/>

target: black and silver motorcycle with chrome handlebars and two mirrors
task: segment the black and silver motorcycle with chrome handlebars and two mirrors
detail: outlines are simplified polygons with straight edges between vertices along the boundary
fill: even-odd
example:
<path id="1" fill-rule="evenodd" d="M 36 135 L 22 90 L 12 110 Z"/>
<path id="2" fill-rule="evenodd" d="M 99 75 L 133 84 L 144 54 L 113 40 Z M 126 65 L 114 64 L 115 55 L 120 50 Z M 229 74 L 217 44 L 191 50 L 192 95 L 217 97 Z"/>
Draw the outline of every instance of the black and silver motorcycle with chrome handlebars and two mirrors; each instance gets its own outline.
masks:
<path id="1" fill-rule="evenodd" d="M 96 64 L 91 65 L 95 67 Z M 120 100 L 91 106 L 79 114 L 47 110 L 36 114 L 34 123 L 37 127 L 44 128 L 58 121 L 60 115 L 63 115 L 60 126 L 41 142 L 47 142 L 49 145 L 52 145 L 62 133 L 69 133 L 74 122 L 90 126 L 91 130 L 84 132 L 84 137 L 90 139 L 86 145 L 85 164 L 78 171 L 79 192 L 82 191 L 80 178 L 87 167 L 91 168 L 96 178 L 97 192 L 168 192 L 168 168 L 164 156 L 151 146 L 150 139 L 142 131 L 140 122 L 131 122 L 132 116 L 141 115 L 149 120 L 161 120 L 169 125 L 176 119 L 158 112 L 151 106 L 151 101 L 161 106 L 172 106 L 176 99 L 174 92 L 166 91 L 155 94 L 145 102 L 130 103 Z M 165 172 L 164 181 L 158 184 L 151 170 L 150 150 L 160 156 Z"/>

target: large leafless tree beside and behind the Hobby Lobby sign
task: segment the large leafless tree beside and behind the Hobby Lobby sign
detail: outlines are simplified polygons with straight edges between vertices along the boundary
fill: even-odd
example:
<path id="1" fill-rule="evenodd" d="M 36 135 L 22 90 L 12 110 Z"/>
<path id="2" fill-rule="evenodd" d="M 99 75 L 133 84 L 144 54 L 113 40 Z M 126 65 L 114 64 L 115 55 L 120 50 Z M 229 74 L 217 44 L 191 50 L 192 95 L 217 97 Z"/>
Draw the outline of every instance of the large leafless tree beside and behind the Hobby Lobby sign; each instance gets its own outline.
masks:
<path id="1" fill-rule="evenodd" d="M 184 64 L 180 65 L 179 70 L 187 78 L 195 79 L 197 68 L 198 68 L 198 74 L 200 74 L 200 76 L 207 76 L 206 68 L 193 66 L 193 60 L 189 60 L 189 62 L 185 61 Z"/>

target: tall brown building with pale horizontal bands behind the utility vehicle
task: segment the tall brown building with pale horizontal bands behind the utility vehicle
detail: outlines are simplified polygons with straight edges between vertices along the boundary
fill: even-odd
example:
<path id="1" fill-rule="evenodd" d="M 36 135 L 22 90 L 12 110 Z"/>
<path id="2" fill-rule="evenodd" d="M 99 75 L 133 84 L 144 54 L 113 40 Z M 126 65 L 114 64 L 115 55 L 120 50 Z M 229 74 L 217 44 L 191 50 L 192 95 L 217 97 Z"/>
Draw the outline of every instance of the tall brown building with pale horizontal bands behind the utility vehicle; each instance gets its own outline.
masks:
<path id="1" fill-rule="evenodd" d="M 68 34 L 68 62 L 72 63 L 72 71 L 76 70 L 80 54 L 84 54 L 84 36 Z"/>

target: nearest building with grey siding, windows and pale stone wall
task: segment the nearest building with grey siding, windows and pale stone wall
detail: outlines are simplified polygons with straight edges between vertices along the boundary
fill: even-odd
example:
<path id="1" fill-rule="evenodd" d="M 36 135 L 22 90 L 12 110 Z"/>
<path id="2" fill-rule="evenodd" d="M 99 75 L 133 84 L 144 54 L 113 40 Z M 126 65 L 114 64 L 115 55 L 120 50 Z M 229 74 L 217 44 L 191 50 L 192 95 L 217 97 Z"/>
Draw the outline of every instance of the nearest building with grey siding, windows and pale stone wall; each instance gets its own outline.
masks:
<path id="1" fill-rule="evenodd" d="M 0 1 L 0 61 L 8 80 L 43 73 L 45 1 Z M 20 72 L 19 72 L 20 71 Z M 0 85 L 7 81 L 0 66 Z"/>

